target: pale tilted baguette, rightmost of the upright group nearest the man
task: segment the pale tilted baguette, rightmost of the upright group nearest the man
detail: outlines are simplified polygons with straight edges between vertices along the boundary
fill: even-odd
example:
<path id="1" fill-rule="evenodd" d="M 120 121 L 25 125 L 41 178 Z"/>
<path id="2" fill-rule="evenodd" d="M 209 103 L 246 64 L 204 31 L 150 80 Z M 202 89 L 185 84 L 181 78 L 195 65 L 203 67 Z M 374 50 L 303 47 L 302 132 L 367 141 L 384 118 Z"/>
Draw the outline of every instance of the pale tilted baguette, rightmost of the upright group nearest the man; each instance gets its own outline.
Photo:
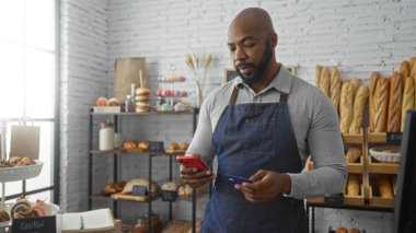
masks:
<path id="1" fill-rule="evenodd" d="M 360 128 L 362 126 L 363 120 L 363 110 L 367 104 L 368 95 L 369 90 L 367 86 L 361 85 L 360 88 L 358 88 L 356 97 L 354 98 L 353 120 L 351 125 L 349 126 L 349 133 L 360 133 Z"/>

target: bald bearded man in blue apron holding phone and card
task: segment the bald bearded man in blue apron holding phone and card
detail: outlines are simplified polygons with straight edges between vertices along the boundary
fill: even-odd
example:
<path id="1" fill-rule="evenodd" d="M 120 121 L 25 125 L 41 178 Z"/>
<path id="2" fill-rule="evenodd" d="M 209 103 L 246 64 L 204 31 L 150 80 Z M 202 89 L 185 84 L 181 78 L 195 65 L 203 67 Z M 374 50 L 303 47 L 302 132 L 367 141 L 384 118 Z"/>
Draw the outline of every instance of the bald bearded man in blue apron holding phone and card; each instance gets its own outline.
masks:
<path id="1" fill-rule="evenodd" d="M 203 104 L 187 154 L 218 173 L 181 170 L 199 187 L 216 178 L 203 232 L 308 232 L 303 199 L 339 193 L 347 170 L 339 124 L 331 101 L 276 61 L 269 14 L 241 11 L 228 34 L 239 73 Z M 302 172 L 311 154 L 315 170 Z M 227 175 L 250 177 L 233 185 Z"/>

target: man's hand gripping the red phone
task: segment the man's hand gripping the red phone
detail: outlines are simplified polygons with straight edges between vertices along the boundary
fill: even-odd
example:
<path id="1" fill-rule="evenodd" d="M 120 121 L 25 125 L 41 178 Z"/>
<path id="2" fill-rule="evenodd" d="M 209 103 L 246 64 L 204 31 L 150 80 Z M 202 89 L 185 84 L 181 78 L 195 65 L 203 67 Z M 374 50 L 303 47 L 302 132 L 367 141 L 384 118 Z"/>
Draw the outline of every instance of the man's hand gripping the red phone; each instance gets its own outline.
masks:
<path id="1" fill-rule="evenodd" d="M 209 170 L 198 172 L 195 167 L 185 168 L 181 166 L 181 178 L 193 188 L 199 188 L 216 177 L 217 175 Z"/>

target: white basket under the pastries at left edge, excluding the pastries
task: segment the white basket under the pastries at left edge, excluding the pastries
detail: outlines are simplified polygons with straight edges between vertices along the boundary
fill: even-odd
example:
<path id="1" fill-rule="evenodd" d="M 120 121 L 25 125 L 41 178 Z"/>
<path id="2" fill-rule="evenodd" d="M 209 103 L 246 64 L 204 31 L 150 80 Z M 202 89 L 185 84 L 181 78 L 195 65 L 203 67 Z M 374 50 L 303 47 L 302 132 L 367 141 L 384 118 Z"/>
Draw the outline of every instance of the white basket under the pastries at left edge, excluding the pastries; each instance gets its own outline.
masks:
<path id="1" fill-rule="evenodd" d="M 35 160 L 34 165 L 27 166 L 13 166 L 0 168 L 0 182 L 18 182 L 23 179 L 30 179 L 41 174 L 43 162 Z"/>

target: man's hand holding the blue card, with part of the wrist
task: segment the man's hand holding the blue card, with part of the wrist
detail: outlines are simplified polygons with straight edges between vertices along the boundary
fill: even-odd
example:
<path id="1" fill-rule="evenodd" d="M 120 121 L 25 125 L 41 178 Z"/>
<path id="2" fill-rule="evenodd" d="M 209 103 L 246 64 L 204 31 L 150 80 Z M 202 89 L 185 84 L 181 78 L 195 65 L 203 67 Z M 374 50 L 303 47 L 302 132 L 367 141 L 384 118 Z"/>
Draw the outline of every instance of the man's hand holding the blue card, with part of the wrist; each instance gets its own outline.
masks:
<path id="1" fill-rule="evenodd" d="M 250 179 L 253 183 L 243 183 L 234 187 L 243 191 L 251 202 L 268 201 L 280 194 L 290 193 L 290 176 L 284 173 L 259 170 Z"/>

